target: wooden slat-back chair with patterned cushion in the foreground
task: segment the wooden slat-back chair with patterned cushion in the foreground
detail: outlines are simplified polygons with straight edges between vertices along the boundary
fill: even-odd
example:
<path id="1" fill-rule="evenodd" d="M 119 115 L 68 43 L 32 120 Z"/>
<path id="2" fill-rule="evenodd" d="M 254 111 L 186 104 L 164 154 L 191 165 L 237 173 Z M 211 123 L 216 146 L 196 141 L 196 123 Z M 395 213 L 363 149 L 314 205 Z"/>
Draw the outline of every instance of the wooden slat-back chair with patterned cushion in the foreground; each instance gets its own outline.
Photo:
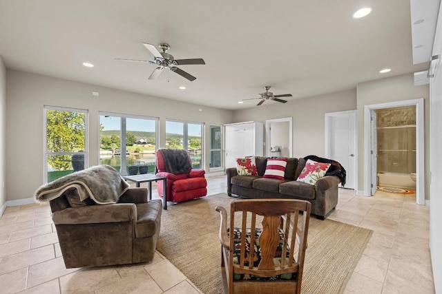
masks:
<path id="1" fill-rule="evenodd" d="M 227 229 L 216 207 L 224 293 L 300 293 L 310 209 L 305 200 L 236 200 Z"/>

